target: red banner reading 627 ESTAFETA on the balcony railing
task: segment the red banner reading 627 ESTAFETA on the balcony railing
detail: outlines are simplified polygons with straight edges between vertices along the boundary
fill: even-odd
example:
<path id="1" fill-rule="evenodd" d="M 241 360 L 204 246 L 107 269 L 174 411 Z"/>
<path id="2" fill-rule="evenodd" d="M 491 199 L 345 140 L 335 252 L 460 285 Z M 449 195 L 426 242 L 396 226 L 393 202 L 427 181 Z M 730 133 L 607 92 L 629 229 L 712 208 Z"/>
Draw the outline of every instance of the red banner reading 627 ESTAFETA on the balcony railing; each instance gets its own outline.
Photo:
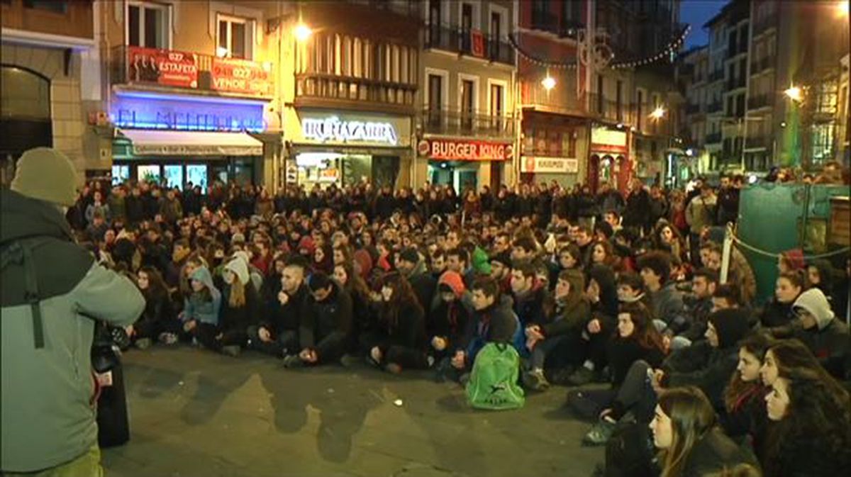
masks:
<path id="1" fill-rule="evenodd" d="M 195 54 L 128 47 L 127 68 L 131 82 L 152 82 L 180 88 L 198 87 L 198 63 Z"/>

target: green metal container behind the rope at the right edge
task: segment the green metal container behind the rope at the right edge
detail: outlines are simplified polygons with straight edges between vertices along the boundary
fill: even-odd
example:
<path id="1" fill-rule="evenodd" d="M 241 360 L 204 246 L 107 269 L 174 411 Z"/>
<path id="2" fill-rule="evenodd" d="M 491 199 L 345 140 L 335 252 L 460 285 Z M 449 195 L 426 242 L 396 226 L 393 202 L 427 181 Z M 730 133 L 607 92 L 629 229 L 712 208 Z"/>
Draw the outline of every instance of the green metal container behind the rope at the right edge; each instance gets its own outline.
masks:
<path id="1" fill-rule="evenodd" d="M 792 248 L 806 255 L 824 253 L 831 197 L 847 195 L 848 185 L 749 185 L 741 191 L 738 236 L 770 253 Z M 764 303 L 774 294 L 777 258 L 740 249 L 757 275 L 757 302 Z"/>

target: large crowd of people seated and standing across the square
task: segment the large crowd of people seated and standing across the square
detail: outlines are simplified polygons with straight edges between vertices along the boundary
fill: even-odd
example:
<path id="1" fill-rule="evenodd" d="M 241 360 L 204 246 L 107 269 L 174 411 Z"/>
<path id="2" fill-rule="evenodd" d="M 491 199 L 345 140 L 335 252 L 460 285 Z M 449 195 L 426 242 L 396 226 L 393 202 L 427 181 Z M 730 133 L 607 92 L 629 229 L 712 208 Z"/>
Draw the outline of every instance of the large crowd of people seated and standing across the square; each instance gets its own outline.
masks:
<path id="1" fill-rule="evenodd" d="M 722 282 L 743 182 L 461 195 L 94 182 L 66 217 L 146 299 L 115 330 L 125 347 L 465 383 L 480 349 L 511 344 L 528 392 L 569 388 L 606 475 L 832 477 L 851 466 L 848 257 L 782 254 L 762 306 L 735 248 Z"/>

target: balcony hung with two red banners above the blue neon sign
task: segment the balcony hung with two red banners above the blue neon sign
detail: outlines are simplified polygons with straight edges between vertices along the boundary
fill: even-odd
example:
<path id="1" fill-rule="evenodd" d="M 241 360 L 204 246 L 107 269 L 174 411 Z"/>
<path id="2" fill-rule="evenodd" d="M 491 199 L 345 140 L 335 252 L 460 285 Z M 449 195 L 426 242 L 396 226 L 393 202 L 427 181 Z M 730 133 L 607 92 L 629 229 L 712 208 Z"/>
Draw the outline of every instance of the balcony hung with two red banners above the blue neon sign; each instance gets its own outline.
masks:
<path id="1" fill-rule="evenodd" d="M 124 45 L 111 53 L 113 85 L 264 99 L 274 92 L 271 66 L 256 61 Z"/>

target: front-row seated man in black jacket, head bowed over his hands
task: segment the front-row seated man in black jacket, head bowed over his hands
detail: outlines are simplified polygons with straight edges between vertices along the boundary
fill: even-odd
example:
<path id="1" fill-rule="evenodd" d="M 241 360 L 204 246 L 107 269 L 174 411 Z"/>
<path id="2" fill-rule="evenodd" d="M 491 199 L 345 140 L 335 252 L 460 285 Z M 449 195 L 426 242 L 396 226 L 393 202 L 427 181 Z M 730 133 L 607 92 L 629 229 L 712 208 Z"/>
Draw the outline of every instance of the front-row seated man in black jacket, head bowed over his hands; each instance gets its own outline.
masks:
<path id="1" fill-rule="evenodd" d="M 307 298 L 299 326 L 301 352 L 284 358 L 287 367 L 339 360 L 351 338 L 354 318 L 349 293 L 323 272 L 311 275 L 307 287 L 311 296 Z"/>

